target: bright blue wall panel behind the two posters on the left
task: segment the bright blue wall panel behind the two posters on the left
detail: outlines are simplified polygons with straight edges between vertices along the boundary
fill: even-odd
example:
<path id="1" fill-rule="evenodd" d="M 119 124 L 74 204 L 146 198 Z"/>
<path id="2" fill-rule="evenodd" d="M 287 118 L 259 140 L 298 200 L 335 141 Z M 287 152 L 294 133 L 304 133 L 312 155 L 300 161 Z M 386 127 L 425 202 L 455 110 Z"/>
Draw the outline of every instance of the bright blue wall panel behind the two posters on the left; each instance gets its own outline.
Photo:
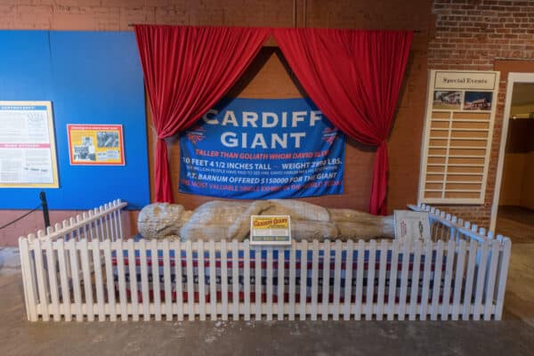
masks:
<path id="1" fill-rule="evenodd" d="M 52 101 L 59 189 L 52 209 L 113 198 L 150 201 L 142 69 L 133 32 L 0 31 L 1 101 Z M 7 55 L 4 55 L 7 54 Z M 125 166 L 70 166 L 67 124 L 120 124 Z M 0 189 L 0 208 L 38 204 L 41 189 Z"/>

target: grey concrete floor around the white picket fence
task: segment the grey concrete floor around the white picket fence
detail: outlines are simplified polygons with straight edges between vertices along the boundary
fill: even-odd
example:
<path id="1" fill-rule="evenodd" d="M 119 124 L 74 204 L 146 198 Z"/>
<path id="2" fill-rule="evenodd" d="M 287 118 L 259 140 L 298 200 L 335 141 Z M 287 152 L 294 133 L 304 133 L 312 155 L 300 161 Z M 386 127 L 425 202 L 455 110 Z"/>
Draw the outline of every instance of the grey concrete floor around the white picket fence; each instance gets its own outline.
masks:
<path id="1" fill-rule="evenodd" d="M 502 321 L 29 323 L 11 271 L 0 274 L 0 355 L 532 355 L 534 227 L 499 219 L 498 231 L 520 241 Z"/>

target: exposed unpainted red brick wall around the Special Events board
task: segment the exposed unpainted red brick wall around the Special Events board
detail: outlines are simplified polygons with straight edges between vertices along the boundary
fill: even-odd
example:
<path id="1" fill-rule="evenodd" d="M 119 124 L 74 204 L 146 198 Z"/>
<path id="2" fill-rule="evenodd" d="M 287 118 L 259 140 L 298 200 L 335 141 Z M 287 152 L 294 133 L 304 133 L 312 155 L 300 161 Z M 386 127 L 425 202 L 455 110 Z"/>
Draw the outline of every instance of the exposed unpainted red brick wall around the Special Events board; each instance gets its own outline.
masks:
<path id="1" fill-rule="evenodd" d="M 534 2 L 435 0 L 435 29 L 428 44 L 429 69 L 501 70 L 495 131 L 484 204 L 443 209 L 487 227 L 495 190 L 508 71 L 534 66 Z"/>

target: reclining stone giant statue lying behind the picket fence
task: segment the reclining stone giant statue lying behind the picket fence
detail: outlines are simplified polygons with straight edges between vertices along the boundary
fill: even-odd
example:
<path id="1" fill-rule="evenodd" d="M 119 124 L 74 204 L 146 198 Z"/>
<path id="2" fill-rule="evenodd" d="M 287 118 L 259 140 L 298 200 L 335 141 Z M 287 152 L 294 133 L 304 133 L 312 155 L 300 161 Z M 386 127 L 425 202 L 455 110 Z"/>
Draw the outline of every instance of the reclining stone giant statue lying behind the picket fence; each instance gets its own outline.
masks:
<path id="1" fill-rule="evenodd" d="M 242 241 L 249 237 L 250 215 L 291 216 L 291 237 L 312 239 L 393 238 L 392 216 L 316 206 L 299 200 L 210 201 L 194 211 L 177 204 L 142 208 L 137 227 L 145 239 Z"/>

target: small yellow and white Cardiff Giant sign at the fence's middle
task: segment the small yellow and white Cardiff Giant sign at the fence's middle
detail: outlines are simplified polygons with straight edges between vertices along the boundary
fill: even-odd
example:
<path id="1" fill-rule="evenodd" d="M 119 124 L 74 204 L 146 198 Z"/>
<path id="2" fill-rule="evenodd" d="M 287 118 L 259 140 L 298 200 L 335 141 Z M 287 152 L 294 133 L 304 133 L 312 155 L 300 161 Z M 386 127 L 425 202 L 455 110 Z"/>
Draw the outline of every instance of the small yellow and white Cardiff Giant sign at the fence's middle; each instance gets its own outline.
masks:
<path id="1" fill-rule="evenodd" d="M 289 215 L 251 215 L 250 245 L 291 245 Z"/>

